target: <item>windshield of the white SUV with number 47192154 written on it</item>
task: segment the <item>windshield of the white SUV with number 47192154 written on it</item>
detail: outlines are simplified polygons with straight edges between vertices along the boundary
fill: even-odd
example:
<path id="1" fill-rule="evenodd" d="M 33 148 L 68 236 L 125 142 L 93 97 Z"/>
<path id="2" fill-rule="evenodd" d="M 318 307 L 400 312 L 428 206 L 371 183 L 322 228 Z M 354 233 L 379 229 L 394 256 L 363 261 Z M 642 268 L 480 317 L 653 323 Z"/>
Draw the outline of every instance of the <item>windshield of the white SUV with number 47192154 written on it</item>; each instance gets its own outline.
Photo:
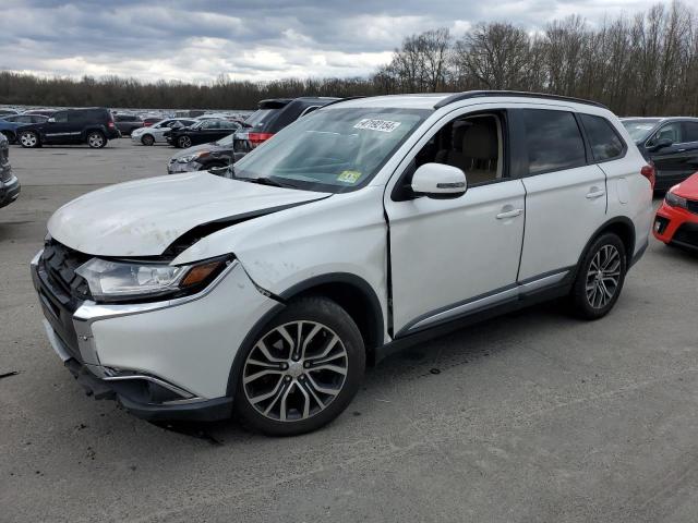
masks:
<path id="1" fill-rule="evenodd" d="M 284 129 L 234 165 L 234 178 L 341 193 L 368 183 L 431 113 L 425 109 L 328 109 Z"/>

